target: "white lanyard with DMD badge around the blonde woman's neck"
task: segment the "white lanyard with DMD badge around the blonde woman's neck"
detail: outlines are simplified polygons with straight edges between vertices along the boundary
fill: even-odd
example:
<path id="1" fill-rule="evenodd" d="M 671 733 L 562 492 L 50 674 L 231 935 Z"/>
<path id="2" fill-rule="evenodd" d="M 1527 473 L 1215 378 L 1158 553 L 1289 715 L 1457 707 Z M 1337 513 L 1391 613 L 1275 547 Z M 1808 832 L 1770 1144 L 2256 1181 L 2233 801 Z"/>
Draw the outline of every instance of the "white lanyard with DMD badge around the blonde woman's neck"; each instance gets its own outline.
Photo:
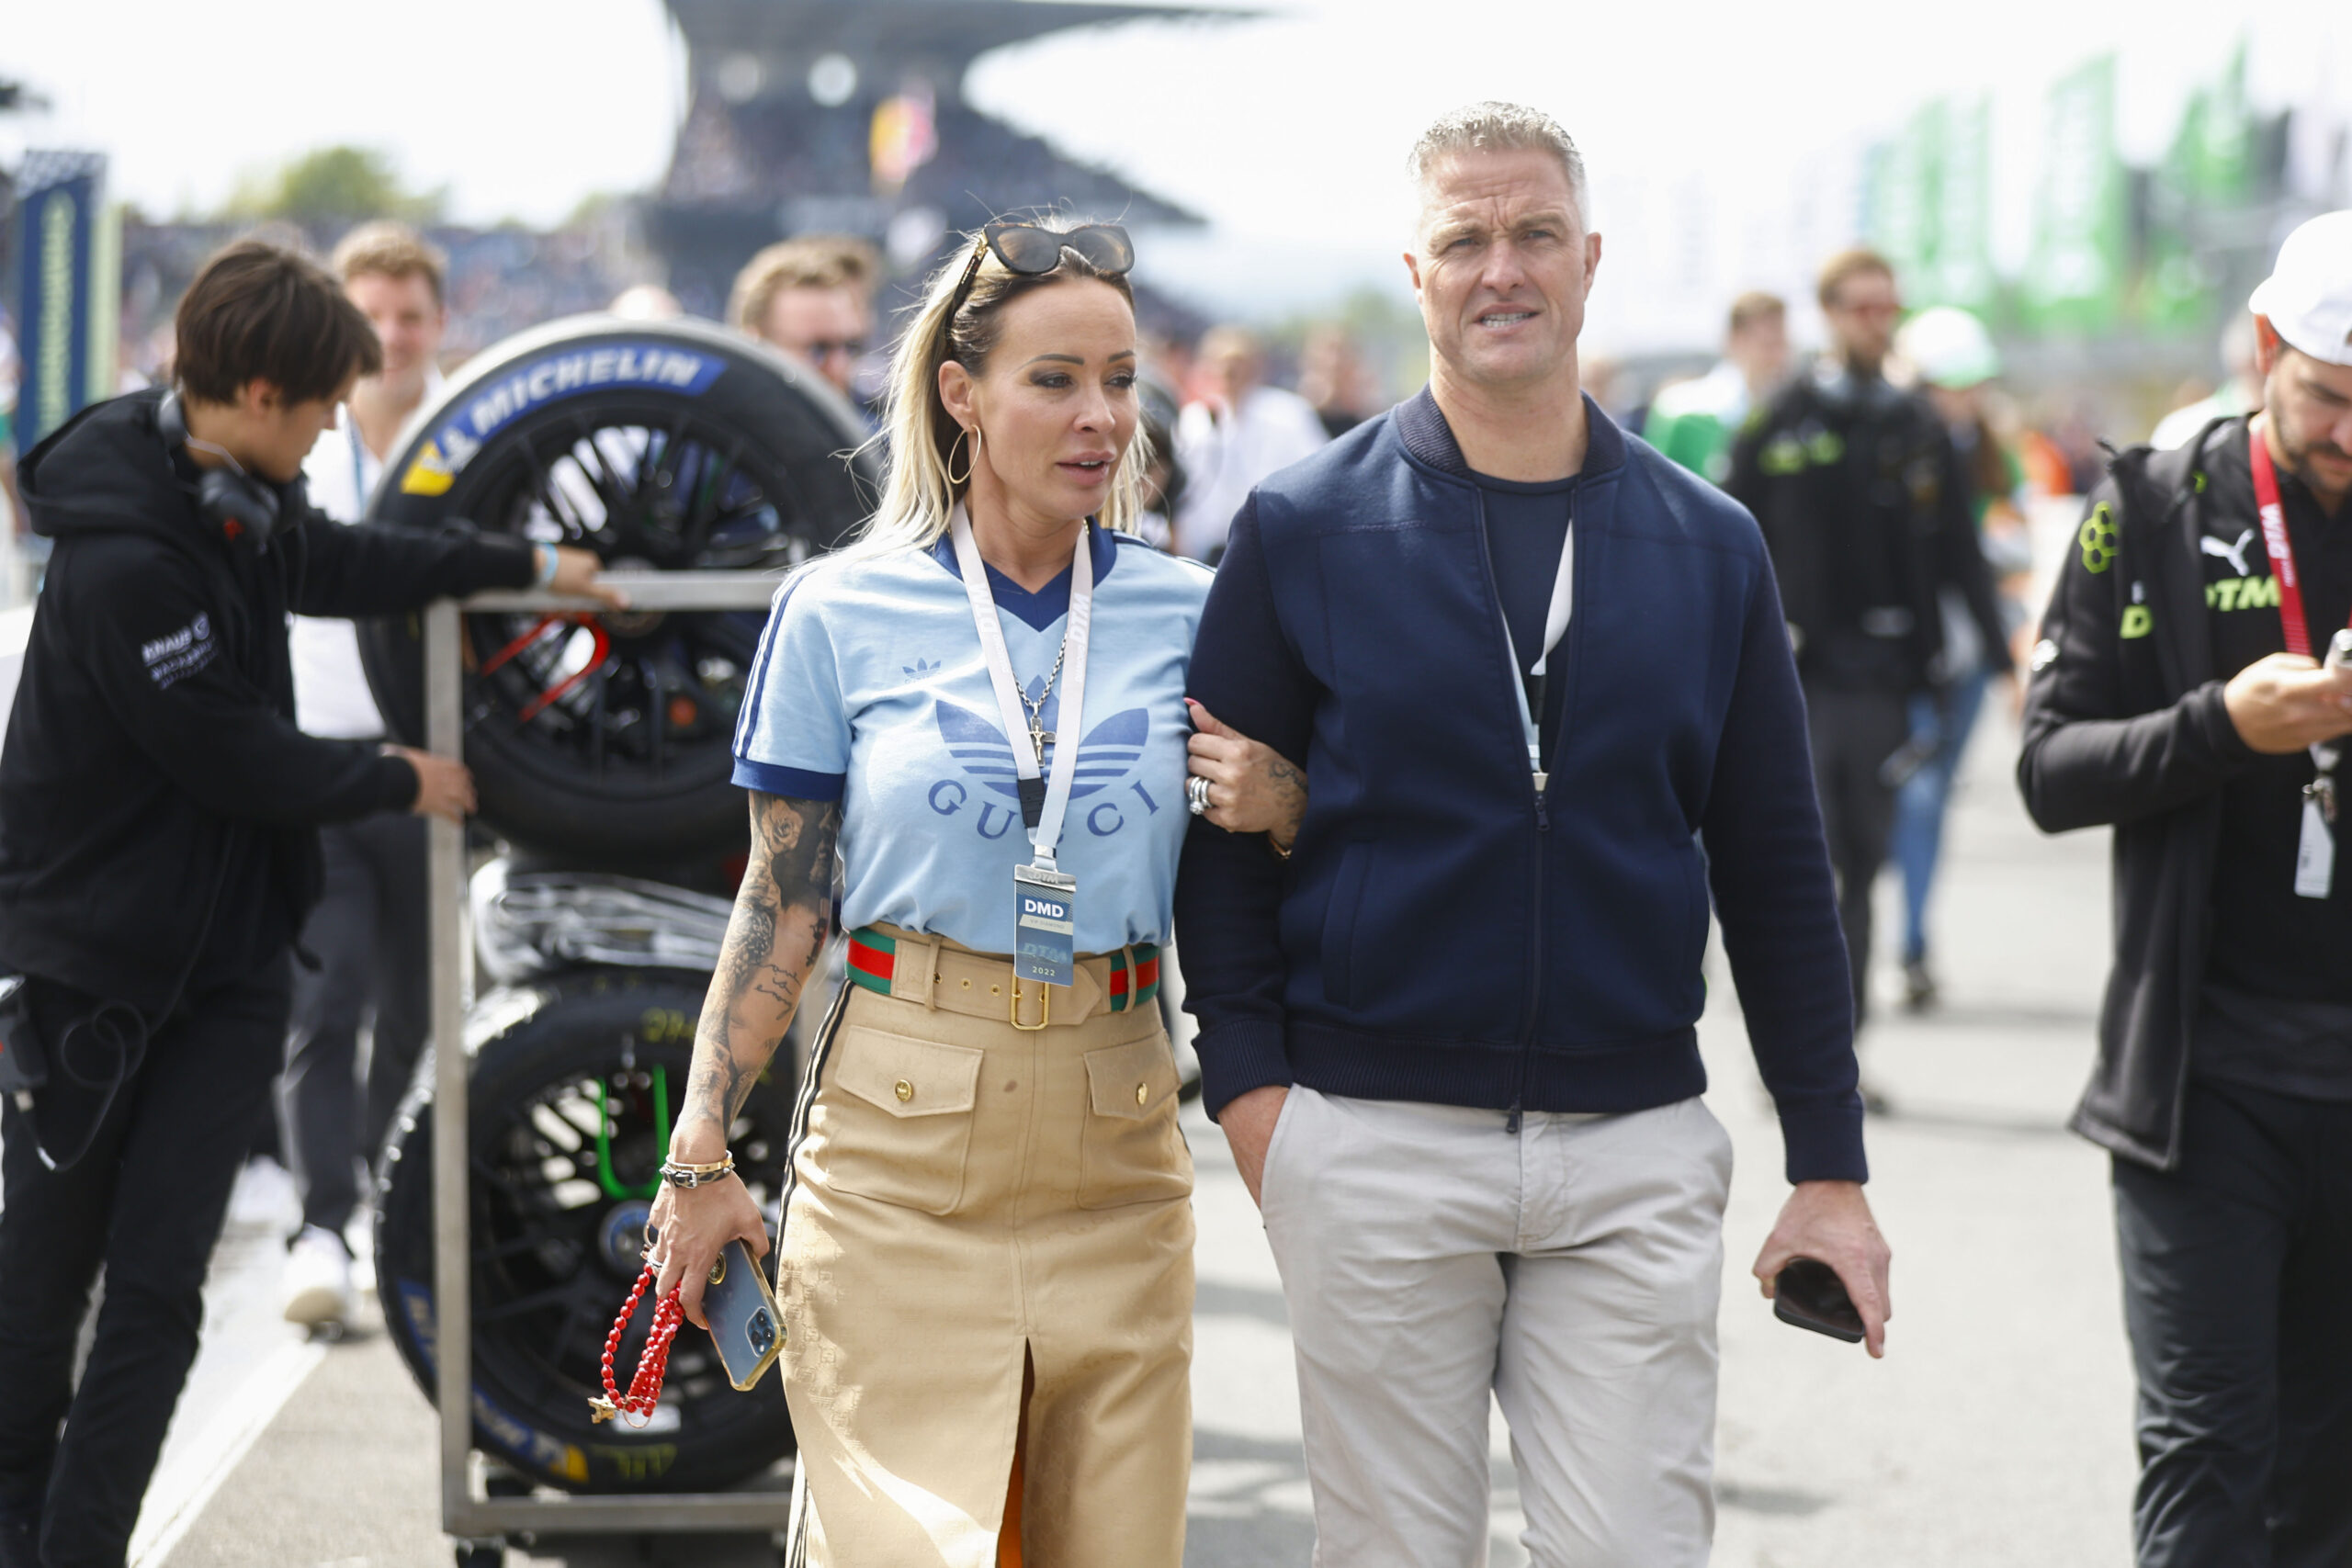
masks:
<path id="1" fill-rule="evenodd" d="M 971 599 L 971 625 L 981 632 L 981 654 L 988 658 L 988 684 L 997 691 L 1004 741 L 1011 745 L 1014 769 L 1021 773 L 1021 825 L 1030 835 L 1030 865 L 1014 867 L 1014 976 L 1044 985 L 1075 985 L 1077 877 L 1054 863 L 1054 849 L 1061 844 L 1061 823 L 1070 811 L 1080 722 L 1087 712 L 1087 639 L 1094 630 L 1091 538 L 1082 527 L 1077 555 L 1070 559 L 1070 621 L 1061 639 L 1058 722 L 1058 729 L 1070 733 L 1065 741 L 1056 741 L 1056 736 L 1044 733 L 1042 719 L 1033 724 L 1023 715 L 1021 682 L 1014 679 L 1014 658 L 1004 649 L 1004 625 L 997 621 L 997 602 L 988 592 L 988 567 L 981 562 L 981 548 L 971 543 L 971 517 L 964 515 L 962 505 L 948 520 L 948 531 L 955 536 L 955 567 L 964 576 L 964 597 Z M 1054 743 L 1051 778 L 1042 776 L 1047 743 Z"/>

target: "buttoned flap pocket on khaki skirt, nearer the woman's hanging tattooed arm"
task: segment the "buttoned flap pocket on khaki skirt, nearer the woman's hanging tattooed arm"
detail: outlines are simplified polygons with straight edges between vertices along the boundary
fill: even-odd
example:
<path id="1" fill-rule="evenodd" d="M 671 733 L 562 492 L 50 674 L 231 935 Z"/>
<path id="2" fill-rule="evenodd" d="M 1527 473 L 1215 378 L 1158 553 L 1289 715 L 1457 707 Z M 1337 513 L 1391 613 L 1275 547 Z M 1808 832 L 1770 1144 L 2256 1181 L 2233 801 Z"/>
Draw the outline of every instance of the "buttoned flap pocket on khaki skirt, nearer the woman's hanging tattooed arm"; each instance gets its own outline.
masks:
<path id="1" fill-rule="evenodd" d="M 964 1197 L 978 1046 L 844 1025 L 833 1046 L 826 1185 L 880 1204 L 950 1213 Z"/>

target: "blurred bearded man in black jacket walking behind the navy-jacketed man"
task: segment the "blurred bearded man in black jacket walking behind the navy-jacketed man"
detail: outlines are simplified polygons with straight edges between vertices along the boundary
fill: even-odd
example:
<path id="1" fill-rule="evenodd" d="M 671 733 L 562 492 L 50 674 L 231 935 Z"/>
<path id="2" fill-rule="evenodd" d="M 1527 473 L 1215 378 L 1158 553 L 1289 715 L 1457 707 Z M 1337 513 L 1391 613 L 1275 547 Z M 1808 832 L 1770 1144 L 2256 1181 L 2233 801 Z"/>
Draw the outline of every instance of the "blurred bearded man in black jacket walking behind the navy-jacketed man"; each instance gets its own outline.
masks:
<path id="1" fill-rule="evenodd" d="M 1731 449 L 1731 491 L 1764 527 L 1797 646 L 1853 1018 L 1870 1011 L 1870 884 L 1886 860 L 1910 757 L 1910 698 L 1945 679 L 1945 588 L 2009 670 L 1969 484 L 1936 409 L 1886 381 L 1903 306 L 1884 256 L 1820 268 L 1832 353 L 1757 414 Z"/>

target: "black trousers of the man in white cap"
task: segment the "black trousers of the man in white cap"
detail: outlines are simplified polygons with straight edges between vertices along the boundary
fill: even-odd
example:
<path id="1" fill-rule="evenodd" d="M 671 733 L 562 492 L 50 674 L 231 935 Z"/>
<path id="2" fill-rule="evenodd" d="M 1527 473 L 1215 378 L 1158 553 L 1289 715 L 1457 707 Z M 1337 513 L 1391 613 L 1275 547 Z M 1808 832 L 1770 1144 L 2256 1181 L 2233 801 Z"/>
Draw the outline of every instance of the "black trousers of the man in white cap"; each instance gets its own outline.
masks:
<path id="1" fill-rule="evenodd" d="M 2178 1171 L 2114 1161 L 2140 1568 L 2352 1563 L 2352 1105 L 2194 1081 Z"/>

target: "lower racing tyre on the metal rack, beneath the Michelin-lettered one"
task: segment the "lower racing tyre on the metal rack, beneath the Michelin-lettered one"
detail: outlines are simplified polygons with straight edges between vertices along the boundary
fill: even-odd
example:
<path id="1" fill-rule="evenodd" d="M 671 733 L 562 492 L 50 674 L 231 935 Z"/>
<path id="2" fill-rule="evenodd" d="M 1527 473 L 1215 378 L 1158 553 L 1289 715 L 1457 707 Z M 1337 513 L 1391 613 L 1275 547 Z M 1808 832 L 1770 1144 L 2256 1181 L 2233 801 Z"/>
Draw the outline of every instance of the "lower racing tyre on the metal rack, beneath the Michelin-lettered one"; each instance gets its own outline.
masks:
<path id="1" fill-rule="evenodd" d="M 670 1112 L 684 1098 L 703 976 L 586 969 L 475 1004 L 468 1095 L 473 1441 L 532 1481 L 576 1493 L 703 1490 L 793 1453 L 783 1378 L 739 1394 L 694 1324 L 670 1347 L 652 1425 L 595 1425 L 612 1319 L 640 1248 Z M 753 1086 L 729 1128 L 736 1171 L 774 1222 L 790 1143 L 790 1063 Z M 376 1166 L 383 1321 L 426 1399 L 435 1394 L 433 1058 Z M 654 1305 L 614 1356 L 626 1387 Z"/>

